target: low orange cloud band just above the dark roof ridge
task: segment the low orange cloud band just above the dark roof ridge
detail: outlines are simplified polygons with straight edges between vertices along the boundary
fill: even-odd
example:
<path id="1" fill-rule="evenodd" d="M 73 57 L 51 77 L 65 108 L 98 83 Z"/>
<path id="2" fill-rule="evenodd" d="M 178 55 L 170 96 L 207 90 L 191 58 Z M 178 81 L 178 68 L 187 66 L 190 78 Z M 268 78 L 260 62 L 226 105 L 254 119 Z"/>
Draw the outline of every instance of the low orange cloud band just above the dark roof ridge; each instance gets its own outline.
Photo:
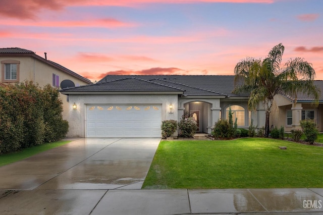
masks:
<path id="1" fill-rule="evenodd" d="M 147 70 L 139 70 L 139 71 L 132 71 L 132 70 L 118 70 L 118 71 L 111 71 L 102 73 L 98 76 L 99 79 L 104 78 L 106 75 L 186 75 L 187 72 L 185 70 L 179 68 L 151 68 Z"/>

